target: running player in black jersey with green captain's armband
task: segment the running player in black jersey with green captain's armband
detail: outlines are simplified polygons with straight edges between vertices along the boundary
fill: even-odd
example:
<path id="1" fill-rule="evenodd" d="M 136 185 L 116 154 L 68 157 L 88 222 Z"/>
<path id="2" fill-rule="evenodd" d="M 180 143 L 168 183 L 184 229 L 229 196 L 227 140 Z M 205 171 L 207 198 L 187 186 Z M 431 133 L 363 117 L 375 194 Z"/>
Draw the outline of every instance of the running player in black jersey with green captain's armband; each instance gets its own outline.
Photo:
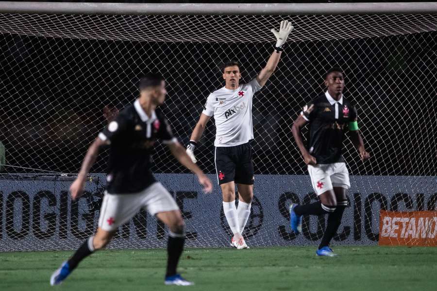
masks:
<path id="1" fill-rule="evenodd" d="M 303 107 L 292 127 L 320 201 L 306 205 L 292 204 L 290 224 L 295 233 L 300 233 L 302 215 L 328 213 L 328 225 L 316 254 L 333 257 L 336 254 L 329 247 L 329 242 L 336 234 L 344 209 L 348 206 L 347 191 L 351 187 L 341 153 L 345 129 L 349 129 L 361 160 L 369 159 L 370 155 L 358 130 L 356 109 L 343 97 L 344 78 L 340 68 L 332 68 L 326 73 L 325 85 L 327 91 Z M 301 135 L 301 128 L 306 123 L 310 126 L 307 147 L 303 145 Z"/>

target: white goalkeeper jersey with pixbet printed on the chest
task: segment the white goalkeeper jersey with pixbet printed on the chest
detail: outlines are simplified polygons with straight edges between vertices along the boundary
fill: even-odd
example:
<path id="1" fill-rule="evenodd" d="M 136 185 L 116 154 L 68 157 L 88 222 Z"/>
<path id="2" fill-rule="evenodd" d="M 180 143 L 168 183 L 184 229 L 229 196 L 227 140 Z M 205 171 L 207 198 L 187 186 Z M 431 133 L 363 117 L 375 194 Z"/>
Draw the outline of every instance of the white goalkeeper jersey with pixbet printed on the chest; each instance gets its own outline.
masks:
<path id="1" fill-rule="evenodd" d="M 260 89 L 255 78 L 235 90 L 223 87 L 208 96 L 202 113 L 216 120 L 214 146 L 238 146 L 253 139 L 252 99 Z"/>

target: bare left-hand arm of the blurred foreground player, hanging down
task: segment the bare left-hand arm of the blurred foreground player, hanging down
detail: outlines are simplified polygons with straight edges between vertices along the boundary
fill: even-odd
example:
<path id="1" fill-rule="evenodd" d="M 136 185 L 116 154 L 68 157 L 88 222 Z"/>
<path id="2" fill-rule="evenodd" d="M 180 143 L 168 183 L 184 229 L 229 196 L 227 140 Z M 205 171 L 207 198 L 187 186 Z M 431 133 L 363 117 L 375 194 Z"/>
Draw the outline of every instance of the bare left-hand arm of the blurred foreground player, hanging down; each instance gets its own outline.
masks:
<path id="1" fill-rule="evenodd" d="M 79 175 L 74 180 L 74 182 L 70 186 L 71 198 L 73 200 L 78 199 L 82 196 L 84 190 L 84 183 L 86 176 L 88 175 L 89 169 L 91 169 L 92 165 L 96 161 L 97 155 L 99 154 L 99 148 L 105 144 L 105 141 L 102 141 L 99 137 L 89 146 L 88 151 L 86 152 L 84 161 L 82 162 L 81 170 Z"/>

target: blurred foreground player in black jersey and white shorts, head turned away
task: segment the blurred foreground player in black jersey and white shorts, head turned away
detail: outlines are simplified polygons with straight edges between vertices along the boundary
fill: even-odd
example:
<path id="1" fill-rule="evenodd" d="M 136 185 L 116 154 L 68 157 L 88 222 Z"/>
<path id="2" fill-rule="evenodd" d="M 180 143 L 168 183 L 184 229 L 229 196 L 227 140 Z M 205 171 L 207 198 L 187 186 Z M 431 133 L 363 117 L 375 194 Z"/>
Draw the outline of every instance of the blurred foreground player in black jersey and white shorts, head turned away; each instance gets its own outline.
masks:
<path id="1" fill-rule="evenodd" d="M 192 285 L 176 273 L 176 266 L 184 248 L 184 221 L 173 197 L 157 182 L 151 173 L 151 154 L 156 139 L 171 150 L 173 156 L 195 173 L 205 192 L 212 189 L 211 182 L 199 167 L 191 162 L 171 133 L 167 119 L 155 108 L 164 102 L 167 91 L 164 79 L 158 74 L 141 78 L 140 97 L 121 111 L 115 120 L 99 134 L 89 147 L 78 178 L 70 187 L 72 199 L 78 199 L 84 190 L 85 178 L 96 160 L 99 148 L 109 145 L 107 188 L 103 198 L 99 227 L 50 278 L 58 285 L 92 252 L 104 248 L 118 226 L 131 219 L 137 210 L 144 208 L 165 223 L 168 237 L 166 285 Z"/>

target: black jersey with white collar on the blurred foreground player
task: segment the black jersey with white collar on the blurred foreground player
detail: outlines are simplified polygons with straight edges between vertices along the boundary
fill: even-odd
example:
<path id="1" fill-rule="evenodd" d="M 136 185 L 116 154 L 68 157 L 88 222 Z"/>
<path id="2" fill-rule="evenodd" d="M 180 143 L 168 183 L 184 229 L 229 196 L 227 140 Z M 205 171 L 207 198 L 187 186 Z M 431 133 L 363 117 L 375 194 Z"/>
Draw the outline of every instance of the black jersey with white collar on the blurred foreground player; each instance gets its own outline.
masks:
<path id="1" fill-rule="evenodd" d="M 158 110 L 149 118 L 136 100 L 99 134 L 109 141 L 106 190 L 111 194 L 140 192 L 155 182 L 151 173 L 153 145 L 176 142 L 167 119 Z"/>

